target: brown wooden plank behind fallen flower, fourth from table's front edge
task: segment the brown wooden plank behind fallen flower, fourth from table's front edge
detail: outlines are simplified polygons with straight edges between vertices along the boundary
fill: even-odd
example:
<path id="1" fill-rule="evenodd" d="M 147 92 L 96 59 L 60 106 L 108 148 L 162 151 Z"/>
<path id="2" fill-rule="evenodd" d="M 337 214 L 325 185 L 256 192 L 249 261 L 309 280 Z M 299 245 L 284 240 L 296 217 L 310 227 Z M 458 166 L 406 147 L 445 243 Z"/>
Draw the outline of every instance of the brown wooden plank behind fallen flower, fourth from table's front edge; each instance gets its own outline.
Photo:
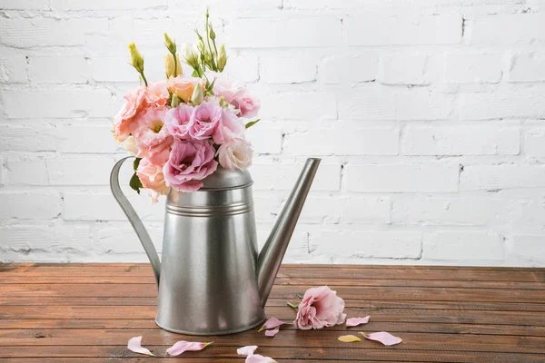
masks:
<path id="1" fill-rule="evenodd" d="M 288 307 L 267 307 L 267 316 L 292 320 Z M 347 307 L 349 317 L 371 315 L 372 321 L 413 323 L 465 323 L 545 327 L 545 314 L 527 311 L 475 311 L 450 309 L 361 309 Z M 3 307 L 0 319 L 154 319 L 155 307 Z"/>

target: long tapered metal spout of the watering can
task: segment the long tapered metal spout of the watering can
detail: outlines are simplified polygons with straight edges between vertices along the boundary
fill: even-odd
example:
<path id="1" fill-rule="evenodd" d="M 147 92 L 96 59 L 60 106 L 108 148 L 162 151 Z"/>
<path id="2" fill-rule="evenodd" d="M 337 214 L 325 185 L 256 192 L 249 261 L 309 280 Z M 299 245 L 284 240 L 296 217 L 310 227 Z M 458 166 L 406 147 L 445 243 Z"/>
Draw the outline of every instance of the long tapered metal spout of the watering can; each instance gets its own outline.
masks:
<path id="1" fill-rule="evenodd" d="M 261 304 L 264 307 L 269 298 L 276 273 L 280 269 L 282 258 L 292 238 L 293 230 L 302 211 L 302 206 L 311 189 L 312 180 L 320 159 L 307 159 L 299 179 L 293 187 L 290 198 L 286 201 L 282 212 L 278 216 L 271 234 L 261 250 L 257 261 L 257 282 Z"/>

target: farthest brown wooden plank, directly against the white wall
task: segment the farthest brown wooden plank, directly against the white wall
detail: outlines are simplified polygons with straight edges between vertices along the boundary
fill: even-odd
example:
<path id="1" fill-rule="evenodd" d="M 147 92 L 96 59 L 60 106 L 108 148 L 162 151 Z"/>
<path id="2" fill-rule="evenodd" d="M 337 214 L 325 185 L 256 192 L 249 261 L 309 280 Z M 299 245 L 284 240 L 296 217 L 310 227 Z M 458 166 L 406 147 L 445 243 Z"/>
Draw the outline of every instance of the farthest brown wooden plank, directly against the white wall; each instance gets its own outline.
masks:
<path id="1" fill-rule="evenodd" d="M 26 276 L 148 276 L 149 264 L 25 264 L 5 265 L 0 274 Z M 545 282 L 545 269 L 456 268 L 439 266 L 380 265 L 282 265 L 281 278 L 300 279 L 398 279 L 398 280 L 482 280 Z"/>

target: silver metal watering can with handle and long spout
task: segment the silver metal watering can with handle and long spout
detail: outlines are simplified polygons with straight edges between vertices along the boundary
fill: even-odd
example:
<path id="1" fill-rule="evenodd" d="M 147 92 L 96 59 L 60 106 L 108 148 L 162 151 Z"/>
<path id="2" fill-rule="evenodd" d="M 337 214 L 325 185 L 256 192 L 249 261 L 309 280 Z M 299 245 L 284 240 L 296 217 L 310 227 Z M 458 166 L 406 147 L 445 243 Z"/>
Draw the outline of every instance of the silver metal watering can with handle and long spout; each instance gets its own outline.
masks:
<path id="1" fill-rule="evenodd" d="M 152 263 L 159 287 L 157 325 L 193 335 L 231 334 L 261 325 L 265 302 L 320 159 L 305 163 L 259 253 L 248 171 L 218 167 L 199 191 L 171 190 L 160 262 L 144 224 L 119 186 L 119 171 L 130 158 L 114 165 L 110 187 Z"/>

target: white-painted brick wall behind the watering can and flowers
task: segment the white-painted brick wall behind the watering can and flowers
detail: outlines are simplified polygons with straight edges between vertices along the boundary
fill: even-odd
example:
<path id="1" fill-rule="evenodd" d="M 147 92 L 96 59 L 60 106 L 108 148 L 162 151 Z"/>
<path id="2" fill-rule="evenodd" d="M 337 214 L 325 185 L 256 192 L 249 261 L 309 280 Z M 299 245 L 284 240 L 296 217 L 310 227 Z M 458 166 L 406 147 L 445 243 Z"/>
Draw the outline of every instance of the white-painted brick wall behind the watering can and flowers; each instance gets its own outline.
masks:
<path id="1" fill-rule="evenodd" d="M 207 4 L 262 99 L 260 245 L 318 156 L 286 261 L 545 264 L 542 0 Z M 0 0 L 0 261 L 146 260 L 108 187 L 126 44 L 162 77 L 163 32 L 193 42 L 205 6 Z M 164 201 L 126 192 L 160 249 Z"/>

